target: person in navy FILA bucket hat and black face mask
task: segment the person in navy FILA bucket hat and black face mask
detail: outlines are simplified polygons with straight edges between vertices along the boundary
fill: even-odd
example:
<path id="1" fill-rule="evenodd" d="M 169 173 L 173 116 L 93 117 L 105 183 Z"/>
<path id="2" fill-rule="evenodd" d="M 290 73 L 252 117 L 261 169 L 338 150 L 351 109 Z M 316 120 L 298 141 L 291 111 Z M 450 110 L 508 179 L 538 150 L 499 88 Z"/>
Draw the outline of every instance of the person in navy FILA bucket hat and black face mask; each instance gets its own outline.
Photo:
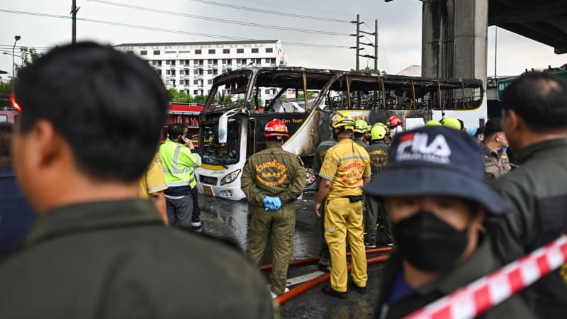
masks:
<path id="1" fill-rule="evenodd" d="M 464 132 L 426 126 L 396 135 L 384 171 L 364 188 L 386 203 L 398 247 L 376 318 L 401 318 L 500 267 L 482 222 L 507 205 L 483 176 L 483 153 Z M 481 318 L 532 315 L 514 296 Z"/>

